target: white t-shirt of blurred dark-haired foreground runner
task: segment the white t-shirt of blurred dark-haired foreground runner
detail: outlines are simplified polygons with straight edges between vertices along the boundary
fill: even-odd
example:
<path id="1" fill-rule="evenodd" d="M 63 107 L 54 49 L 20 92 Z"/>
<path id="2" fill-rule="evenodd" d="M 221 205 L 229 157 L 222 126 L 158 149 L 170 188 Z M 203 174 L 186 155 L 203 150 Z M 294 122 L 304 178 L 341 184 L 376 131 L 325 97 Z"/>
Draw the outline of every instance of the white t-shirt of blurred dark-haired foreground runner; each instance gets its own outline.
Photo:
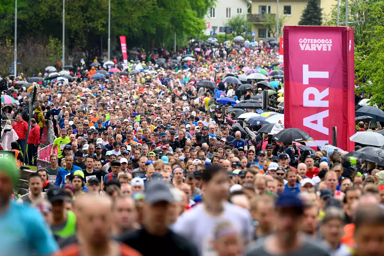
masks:
<path id="1" fill-rule="evenodd" d="M 203 204 L 185 211 L 173 226 L 173 230 L 192 241 L 200 255 L 215 256 L 217 253 L 211 243 L 213 233 L 217 224 L 224 221 L 233 223 L 245 243 L 251 241 L 253 225 L 249 211 L 228 202 L 224 203 L 224 212 L 221 216 L 210 216 L 204 210 Z"/>

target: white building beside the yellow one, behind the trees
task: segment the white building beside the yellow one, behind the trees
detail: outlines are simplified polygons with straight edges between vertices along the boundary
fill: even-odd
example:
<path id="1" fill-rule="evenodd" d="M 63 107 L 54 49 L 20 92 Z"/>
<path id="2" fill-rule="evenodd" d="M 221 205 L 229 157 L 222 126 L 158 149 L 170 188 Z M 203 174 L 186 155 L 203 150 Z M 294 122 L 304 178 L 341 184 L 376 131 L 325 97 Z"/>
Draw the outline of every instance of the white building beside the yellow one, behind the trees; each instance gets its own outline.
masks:
<path id="1" fill-rule="evenodd" d="M 205 17 L 207 25 L 205 34 L 210 35 L 213 31 L 212 27 L 217 27 L 216 33 L 219 34 L 219 28 L 225 27 L 232 17 L 238 14 L 247 15 L 250 5 L 251 2 L 248 0 L 217 0 L 215 7 L 208 10 L 207 17 Z"/>

